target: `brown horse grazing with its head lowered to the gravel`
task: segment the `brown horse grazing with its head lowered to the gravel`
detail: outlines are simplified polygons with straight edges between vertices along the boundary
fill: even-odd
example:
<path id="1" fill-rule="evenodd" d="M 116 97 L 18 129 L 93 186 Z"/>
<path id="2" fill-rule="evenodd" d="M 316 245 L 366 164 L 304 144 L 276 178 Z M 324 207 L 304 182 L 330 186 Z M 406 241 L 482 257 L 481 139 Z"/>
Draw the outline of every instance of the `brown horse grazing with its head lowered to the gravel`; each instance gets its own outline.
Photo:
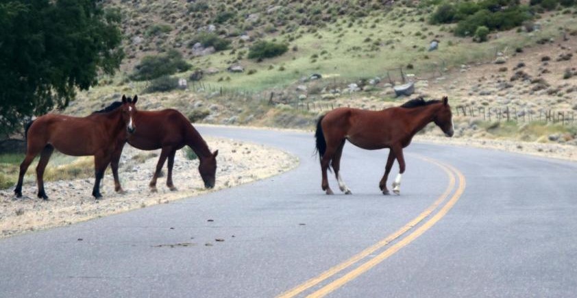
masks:
<path id="1" fill-rule="evenodd" d="M 136 100 L 136 97 L 135 97 Z M 138 123 L 138 131 L 131 134 L 128 143 L 141 150 L 162 149 L 156 164 L 156 171 L 149 184 L 151 191 L 156 192 L 156 179 L 160 175 L 164 161 L 168 162 L 167 186 L 176 190 L 172 182 L 172 168 L 174 156 L 178 149 L 185 145 L 191 147 L 200 160 L 199 173 L 206 188 L 214 187 L 214 176 L 217 171 L 217 155 L 219 151 L 211 153 L 204 139 L 197 132 L 191 122 L 177 110 L 167 109 L 160 111 L 138 111 L 134 114 L 134 121 Z M 120 156 L 112 161 L 112 173 L 118 172 Z M 114 184 L 119 191 L 118 175 L 114 175 Z"/>

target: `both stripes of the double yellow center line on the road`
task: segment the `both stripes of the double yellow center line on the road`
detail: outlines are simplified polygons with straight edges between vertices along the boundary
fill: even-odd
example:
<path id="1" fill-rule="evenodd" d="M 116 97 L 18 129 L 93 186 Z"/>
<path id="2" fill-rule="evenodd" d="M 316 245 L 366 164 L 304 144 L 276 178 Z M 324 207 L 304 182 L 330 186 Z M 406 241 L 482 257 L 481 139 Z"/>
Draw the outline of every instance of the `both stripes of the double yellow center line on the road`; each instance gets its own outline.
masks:
<path id="1" fill-rule="evenodd" d="M 377 256 L 371 257 L 369 260 L 366 260 L 363 264 L 360 264 L 355 269 L 349 271 L 348 273 L 345 273 L 343 276 L 337 278 L 336 280 L 333 280 L 332 282 L 326 284 L 325 286 L 319 288 L 318 290 L 307 296 L 307 297 L 324 297 L 329 293 L 331 293 L 332 291 L 340 288 L 347 282 L 354 280 L 359 275 L 369 271 L 369 269 L 373 268 L 373 266 L 376 266 L 386 258 L 389 258 L 394 253 L 396 253 L 409 243 L 413 242 L 413 240 L 421 236 L 421 234 L 426 232 L 428 229 L 430 229 L 430 227 L 432 227 L 435 223 L 441 220 L 443 216 L 445 216 L 445 214 L 447 214 L 447 212 L 449 212 L 449 210 L 454 206 L 454 204 L 456 203 L 456 201 L 458 201 L 461 195 L 463 195 L 463 192 L 465 191 L 465 176 L 463 175 L 463 173 L 461 173 L 460 171 L 458 171 L 457 169 L 448 164 L 443 164 L 437 160 L 432 160 L 430 158 L 423 158 L 423 157 L 419 158 L 427 162 L 431 162 L 436 166 L 439 166 L 439 168 L 441 168 L 447 174 L 447 177 L 449 179 L 449 184 L 447 188 L 445 189 L 443 194 L 432 203 L 431 206 L 429 206 L 426 210 L 421 212 L 421 214 L 415 217 L 415 219 L 413 219 L 412 221 L 410 221 L 409 223 L 398 229 L 393 234 L 380 240 L 375 245 L 372 245 L 371 247 L 368 247 L 367 249 L 361 251 L 360 253 L 357 253 L 355 256 L 352 256 L 352 258 L 349 258 L 345 262 L 333 266 L 332 268 L 321 273 L 320 275 L 312 277 L 310 280 L 307 280 L 306 282 L 299 284 L 298 286 L 295 286 L 295 288 L 292 288 L 291 290 L 282 293 L 278 297 L 279 298 L 295 297 L 296 295 L 303 293 L 305 290 L 308 290 L 309 288 L 312 288 L 313 286 L 316 286 L 317 284 L 320 284 L 321 282 L 328 280 L 336 273 L 340 273 L 341 271 L 344 271 L 350 266 L 358 263 L 360 260 L 367 258 L 367 256 L 371 255 L 375 251 L 382 249 L 383 247 L 386 247 L 386 245 L 389 245 L 389 243 L 393 242 L 393 240 L 399 239 L 395 244 L 391 245 L 391 247 L 385 249 Z M 456 190 L 454 190 L 456 183 L 458 183 L 458 185 L 456 187 Z M 447 199 L 447 197 L 450 196 L 451 193 L 453 193 L 452 197 L 445 202 L 445 200 Z M 434 212 L 434 210 L 437 210 L 437 208 L 443 202 L 444 205 L 439 209 L 439 211 L 433 216 L 430 216 Z M 422 221 L 424 221 L 427 218 L 429 218 L 428 221 L 425 221 L 424 223 L 422 223 L 422 225 L 419 225 Z M 417 225 L 419 225 L 419 227 L 417 227 Z"/>

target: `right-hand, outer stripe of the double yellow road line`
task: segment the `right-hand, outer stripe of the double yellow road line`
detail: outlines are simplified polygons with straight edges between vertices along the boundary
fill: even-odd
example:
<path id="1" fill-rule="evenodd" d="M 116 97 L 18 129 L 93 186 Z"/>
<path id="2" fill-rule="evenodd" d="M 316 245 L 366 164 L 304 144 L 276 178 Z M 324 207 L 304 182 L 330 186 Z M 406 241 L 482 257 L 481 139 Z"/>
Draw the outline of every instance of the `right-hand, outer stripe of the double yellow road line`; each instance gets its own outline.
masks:
<path id="1" fill-rule="evenodd" d="M 392 256 L 394 253 L 396 253 L 409 243 L 413 242 L 413 240 L 421 236 L 421 234 L 426 232 L 428 229 L 430 229 L 430 227 L 432 227 L 441 218 L 443 218 L 443 216 L 445 216 L 445 214 L 447 214 L 447 212 L 449 212 L 449 210 L 455 205 L 455 203 L 458 201 L 461 195 L 463 195 L 466 184 L 465 176 L 463 176 L 463 174 L 460 171 L 454 169 L 452 166 L 449 165 L 447 165 L 447 167 L 458 175 L 459 185 L 453 197 L 451 197 L 451 199 L 445 204 L 445 206 L 443 206 L 443 208 L 441 208 L 441 210 L 439 210 L 439 212 L 437 212 L 437 214 L 434 214 L 434 216 L 432 216 L 430 220 L 428 220 L 426 223 L 423 223 L 423 225 L 415 229 L 414 232 L 408 234 L 405 238 L 389 247 L 389 249 L 386 249 L 386 251 L 379 253 L 376 257 L 358 266 L 356 269 L 350 271 L 349 273 L 343 275 L 342 277 L 339 277 L 339 279 L 334 280 L 334 282 L 331 282 L 330 284 L 323 286 L 323 288 L 320 288 L 315 293 L 308 295 L 308 297 L 310 298 L 324 297 L 325 295 L 331 293 L 337 288 L 340 288 L 347 282 L 354 280 L 359 275 L 367 272 L 369 269 L 373 268 L 373 266 L 376 266 L 377 264 L 379 264 L 386 258 L 389 258 L 389 256 Z"/>

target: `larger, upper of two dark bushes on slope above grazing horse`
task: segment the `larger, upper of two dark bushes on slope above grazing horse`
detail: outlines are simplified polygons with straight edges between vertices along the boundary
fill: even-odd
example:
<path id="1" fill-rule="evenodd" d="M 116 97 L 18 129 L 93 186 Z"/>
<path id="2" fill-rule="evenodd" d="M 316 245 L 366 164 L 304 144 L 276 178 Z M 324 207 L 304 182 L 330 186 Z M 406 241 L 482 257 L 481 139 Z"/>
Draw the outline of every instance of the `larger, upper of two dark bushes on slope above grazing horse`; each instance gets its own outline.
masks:
<path id="1" fill-rule="evenodd" d="M 134 73 L 130 75 L 135 81 L 156 79 L 163 75 L 173 75 L 177 72 L 188 71 L 191 64 L 182 59 L 182 54 L 176 50 L 170 50 L 164 55 L 148 55 L 134 66 Z"/>

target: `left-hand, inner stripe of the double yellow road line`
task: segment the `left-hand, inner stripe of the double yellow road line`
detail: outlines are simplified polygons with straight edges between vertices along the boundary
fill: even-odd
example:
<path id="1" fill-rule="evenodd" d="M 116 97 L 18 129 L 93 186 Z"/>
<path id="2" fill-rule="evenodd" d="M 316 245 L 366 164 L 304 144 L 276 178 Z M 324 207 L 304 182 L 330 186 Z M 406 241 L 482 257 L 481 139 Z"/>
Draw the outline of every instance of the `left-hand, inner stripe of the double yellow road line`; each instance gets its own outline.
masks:
<path id="1" fill-rule="evenodd" d="M 298 286 L 295 286 L 295 288 L 291 288 L 291 290 L 288 290 L 288 291 L 278 295 L 278 298 L 295 297 L 296 295 L 299 295 L 300 293 L 302 293 L 304 290 L 307 290 L 308 288 L 315 286 L 315 285 L 319 284 L 320 282 L 323 282 L 324 280 L 328 279 L 332 275 L 335 275 L 336 273 L 339 273 L 340 271 L 347 269 L 349 266 L 352 266 L 353 264 L 355 264 L 359 260 L 366 258 L 371 253 L 373 253 L 373 252 L 377 251 L 378 249 L 388 245 L 389 243 L 391 243 L 391 241 L 399 238 L 400 236 L 402 236 L 403 234 L 408 232 L 410 229 L 415 227 L 415 225 L 418 225 L 421 221 L 423 221 L 423 219 L 425 219 L 427 216 L 429 216 L 433 212 L 433 210 L 435 210 L 437 208 L 437 206 L 439 206 L 439 204 L 441 204 L 443 201 L 445 201 L 445 199 L 449 196 L 449 194 L 451 193 L 451 191 L 453 190 L 453 188 L 455 186 L 455 176 L 453 175 L 453 173 L 449 169 L 447 169 L 447 167 L 443 166 L 439 162 L 435 162 L 434 160 L 430 160 L 428 158 L 422 158 L 422 157 L 419 157 L 419 158 L 439 166 L 441 169 L 443 169 L 443 171 L 445 171 L 445 173 L 447 174 L 447 177 L 449 178 L 449 185 L 447 186 L 447 188 L 445 189 L 443 194 L 436 201 L 434 201 L 434 203 L 432 203 L 431 206 L 429 206 L 425 211 L 421 212 L 421 214 L 419 214 L 419 216 L 415 217 L 415 219 L 413 219 L 412 221 L 410 221 L 409 223 L 407 223 L 406 225 L 404 225 L 403 227 L 398 229 L 393 234 L 380 240 L 375 245 L 372 245 L 371 247 L 368 247 L 367 249 L 361 251 L 360 253 L 357 253 L 355 256 L 352 256 L 352 258 L 349 258 L 345 262 L 342 262 L 341 264 L 337 264 L 336 266 L 333 266 L 332 268 L 321 273 L 320 275 L 318 275 L 316 277 L 312 277 L 310 280 L 307 280 L 306 282 L 299 284 Z"/>

